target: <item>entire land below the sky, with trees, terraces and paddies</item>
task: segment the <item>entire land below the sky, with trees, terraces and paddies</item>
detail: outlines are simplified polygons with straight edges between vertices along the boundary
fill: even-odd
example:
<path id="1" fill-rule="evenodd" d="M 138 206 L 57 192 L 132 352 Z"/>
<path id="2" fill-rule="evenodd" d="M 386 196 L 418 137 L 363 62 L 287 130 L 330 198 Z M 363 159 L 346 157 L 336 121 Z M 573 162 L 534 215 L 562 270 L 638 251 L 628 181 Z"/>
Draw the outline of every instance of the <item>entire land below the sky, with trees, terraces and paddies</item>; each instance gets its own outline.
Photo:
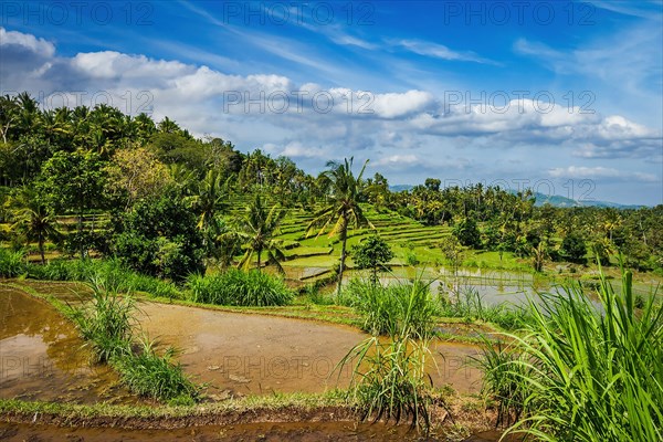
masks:
<path id="1" fill-rule="evenodd" d="M 663 440 L 663 206 L 0 105 L 0 439 Z"/>

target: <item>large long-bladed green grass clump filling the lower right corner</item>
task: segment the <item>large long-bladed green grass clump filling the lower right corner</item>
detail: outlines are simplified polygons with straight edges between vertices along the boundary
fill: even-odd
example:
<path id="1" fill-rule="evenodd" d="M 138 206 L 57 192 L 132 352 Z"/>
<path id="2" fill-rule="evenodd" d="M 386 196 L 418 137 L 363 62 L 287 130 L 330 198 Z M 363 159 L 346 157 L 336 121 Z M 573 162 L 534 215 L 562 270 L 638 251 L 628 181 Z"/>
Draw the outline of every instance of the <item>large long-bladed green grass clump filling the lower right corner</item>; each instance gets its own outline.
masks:
<path id="1" fill-rule="evenodd" d="M 522 356 L 485 364 L 488 391 L 522 407 L 508 432 L 541 441 L 663 440 L 663 308 L 654 295 L 635 307 L 630 272 L 619 292 L 601 273 L 599 297 L 597 308 L 570 286 L 530 299 L 526 333 L 508 335 Z M 523 399 L 499 393 L 502 382 L 516 382 Z"/>

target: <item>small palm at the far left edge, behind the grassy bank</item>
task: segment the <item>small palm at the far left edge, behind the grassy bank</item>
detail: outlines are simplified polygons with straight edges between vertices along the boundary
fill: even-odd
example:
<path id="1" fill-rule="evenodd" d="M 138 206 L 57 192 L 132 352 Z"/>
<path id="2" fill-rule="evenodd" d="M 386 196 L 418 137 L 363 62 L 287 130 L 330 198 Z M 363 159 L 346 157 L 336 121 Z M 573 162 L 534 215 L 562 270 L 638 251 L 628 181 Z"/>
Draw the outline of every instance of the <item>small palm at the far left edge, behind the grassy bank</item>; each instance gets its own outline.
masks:
<path id="1" fill-rule="evenodd" d="M 29 188 L 22 188 L 6 204 L 13 220 L 10 229 L 23 233 L 28 242 L 36 241 L 42 264 L 45 264 L 44 243 L 61 236 L 54 214 Z"/>

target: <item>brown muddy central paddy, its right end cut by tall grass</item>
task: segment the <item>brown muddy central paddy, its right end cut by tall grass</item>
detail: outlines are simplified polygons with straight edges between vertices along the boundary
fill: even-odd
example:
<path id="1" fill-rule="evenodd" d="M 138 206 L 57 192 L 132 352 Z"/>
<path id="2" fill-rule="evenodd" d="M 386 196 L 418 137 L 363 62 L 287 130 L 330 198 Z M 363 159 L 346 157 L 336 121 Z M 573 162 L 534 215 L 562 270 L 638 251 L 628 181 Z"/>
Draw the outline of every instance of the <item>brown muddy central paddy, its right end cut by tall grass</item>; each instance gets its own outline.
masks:
<path id="1" fill-rule="evenodd" d="M 141 328 L 162 346 L 180 349 L 185 370 L 212 386 L 212 399 L 347 388 L 350 367 L 334 369 L 367 337 L 351 327 L 311 320 L 155 303 L 143 304 L 140 309 Z M 465 366 L 478 351 L 476 347 L 436 343 L 432 351 L 436 369 L 431 365 L 429 371 L 435 386 L 450 383 L 460 392 L 478 390 L 478 370 Z"/>

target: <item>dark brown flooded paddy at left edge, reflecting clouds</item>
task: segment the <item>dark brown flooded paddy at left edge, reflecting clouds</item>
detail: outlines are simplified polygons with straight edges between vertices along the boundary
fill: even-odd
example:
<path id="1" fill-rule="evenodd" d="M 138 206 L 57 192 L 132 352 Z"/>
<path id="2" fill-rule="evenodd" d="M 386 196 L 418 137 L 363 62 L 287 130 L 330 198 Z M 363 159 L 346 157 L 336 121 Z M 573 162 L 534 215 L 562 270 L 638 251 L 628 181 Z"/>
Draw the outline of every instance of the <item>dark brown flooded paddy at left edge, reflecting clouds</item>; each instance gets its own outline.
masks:
<path id="1" fill-rule="evenodd" d="M 133 401 L 109 368 L 88 364 L 82 345 L 51 305 L 0 285 L 0 398 Z"/>

